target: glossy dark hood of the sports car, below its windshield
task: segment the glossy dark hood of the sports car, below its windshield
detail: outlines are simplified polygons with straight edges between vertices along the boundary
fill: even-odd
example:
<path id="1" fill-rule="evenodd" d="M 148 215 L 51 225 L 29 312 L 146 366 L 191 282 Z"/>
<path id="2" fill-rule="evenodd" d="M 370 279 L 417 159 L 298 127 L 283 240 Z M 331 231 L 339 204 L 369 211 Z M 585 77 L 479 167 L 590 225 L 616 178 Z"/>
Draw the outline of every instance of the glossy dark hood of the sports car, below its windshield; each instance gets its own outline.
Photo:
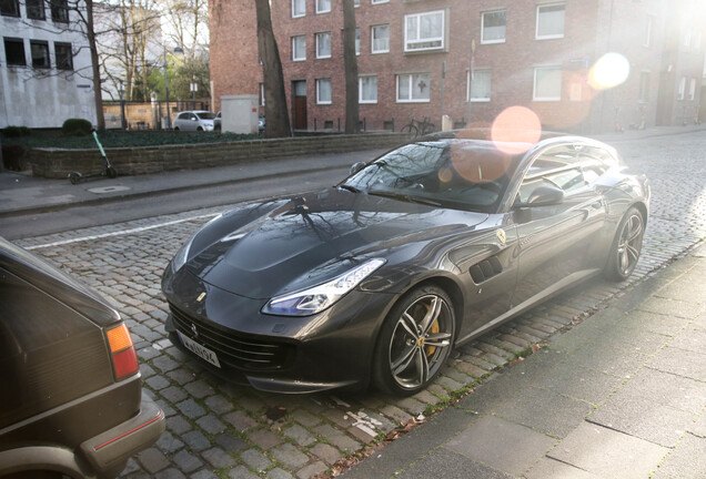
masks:
<path id="1" fill-rule="evenodd" d="M 396 246 L 467 231 L 487 217 L 336 188 L 271 205 L 219 227 L 228 233 L 193 255 L 186 269 L 219 288 L 264 299 L 329 281 Z"/>

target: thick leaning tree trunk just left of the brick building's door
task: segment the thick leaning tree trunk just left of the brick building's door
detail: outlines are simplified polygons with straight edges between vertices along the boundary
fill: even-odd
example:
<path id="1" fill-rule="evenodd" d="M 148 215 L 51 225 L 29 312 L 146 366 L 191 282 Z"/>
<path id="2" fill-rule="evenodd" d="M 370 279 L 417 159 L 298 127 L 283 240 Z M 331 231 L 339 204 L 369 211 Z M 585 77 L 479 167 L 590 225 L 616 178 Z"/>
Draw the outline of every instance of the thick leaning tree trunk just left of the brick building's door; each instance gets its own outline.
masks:
<path id="1" fill-rule="evenodd" d="M 284 93 L 282 61 L 272 31 L 270 1 L 255 0 L 255 12 L 258 16 L 258 50 L 264 69 L 265 137 L 292 136 Z"/>

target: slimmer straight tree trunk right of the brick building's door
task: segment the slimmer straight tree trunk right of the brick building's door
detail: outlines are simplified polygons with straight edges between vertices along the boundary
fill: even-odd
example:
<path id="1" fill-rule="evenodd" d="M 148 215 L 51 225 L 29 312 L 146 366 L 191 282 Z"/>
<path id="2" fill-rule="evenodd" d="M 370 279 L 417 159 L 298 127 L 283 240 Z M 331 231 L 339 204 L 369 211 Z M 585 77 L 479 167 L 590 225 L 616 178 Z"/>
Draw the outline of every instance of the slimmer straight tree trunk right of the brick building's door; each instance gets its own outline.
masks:
<path id="1" fill-rule="evenodd" d="M 353 134 L 360 131 L 354 0 L 343 0 L 343 68 L 345 69 L 345 132 Z"/>

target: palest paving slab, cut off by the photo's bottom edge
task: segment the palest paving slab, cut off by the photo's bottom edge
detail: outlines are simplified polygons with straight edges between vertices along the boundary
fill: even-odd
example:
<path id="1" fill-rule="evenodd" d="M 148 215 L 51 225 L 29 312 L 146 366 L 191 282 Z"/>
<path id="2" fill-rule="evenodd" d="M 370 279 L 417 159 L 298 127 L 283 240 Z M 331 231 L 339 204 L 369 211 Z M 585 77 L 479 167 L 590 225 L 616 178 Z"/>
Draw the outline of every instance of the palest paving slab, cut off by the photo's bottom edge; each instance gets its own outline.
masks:
<path id="1" fill-rule="evenodd" d="M 669 449 L 601 426 L 583 422 L 548 457 L 601 477 L 649 477 Z"/>

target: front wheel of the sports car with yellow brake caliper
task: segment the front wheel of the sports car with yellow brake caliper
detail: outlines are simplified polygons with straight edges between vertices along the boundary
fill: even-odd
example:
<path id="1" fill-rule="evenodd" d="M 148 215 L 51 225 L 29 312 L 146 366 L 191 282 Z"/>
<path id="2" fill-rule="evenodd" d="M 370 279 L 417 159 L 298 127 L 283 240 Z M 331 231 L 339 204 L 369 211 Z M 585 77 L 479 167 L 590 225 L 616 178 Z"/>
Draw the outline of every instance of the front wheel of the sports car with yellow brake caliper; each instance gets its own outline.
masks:
<path id="1" fill-rule="evenodd" d="M 410 396 L 441 371 L 455 334 L 448 295 L 436 286 L 413 289 L 391 309 L 375 347 L 373 380 L 379 389 Z"/>

